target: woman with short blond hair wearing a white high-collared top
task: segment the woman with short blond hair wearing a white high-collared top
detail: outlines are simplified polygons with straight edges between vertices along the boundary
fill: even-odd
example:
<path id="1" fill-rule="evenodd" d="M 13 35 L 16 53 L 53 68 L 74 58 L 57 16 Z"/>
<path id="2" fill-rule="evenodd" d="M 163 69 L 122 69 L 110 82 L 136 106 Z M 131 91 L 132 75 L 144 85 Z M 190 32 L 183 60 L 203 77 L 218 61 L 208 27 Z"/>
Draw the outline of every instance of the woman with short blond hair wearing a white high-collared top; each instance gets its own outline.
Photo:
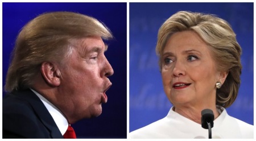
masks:
<path id="1" fill-rule="evenodd" d="M 179 11 L 158 32 L 156 53 L 164 92 L 172 103 L 166 117 L 139 128 L 129 138 L 208 138 L 201 111 L 213 111 L 212 138 L 253 138 L 253 126 L 225 108 L 240 86 L 241 47 L 225 20 Z"/>

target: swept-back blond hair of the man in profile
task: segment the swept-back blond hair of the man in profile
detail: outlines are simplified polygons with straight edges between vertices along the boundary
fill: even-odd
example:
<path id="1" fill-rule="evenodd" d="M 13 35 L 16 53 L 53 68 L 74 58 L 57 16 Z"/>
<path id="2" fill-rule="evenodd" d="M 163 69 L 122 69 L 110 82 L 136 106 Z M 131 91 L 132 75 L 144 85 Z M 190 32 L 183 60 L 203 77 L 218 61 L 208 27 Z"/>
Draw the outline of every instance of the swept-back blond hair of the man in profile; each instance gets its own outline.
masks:
<path id="1" fill-rule="evenodd" d="M 103 23 L 90 16 L 72 12 L 52 12 L 28 22 L 16 39 L 5 90 L 30 88 L 45 61 L 62 63 L 71 51 L 71 42 L 88 36 L 112 39 Z"/>

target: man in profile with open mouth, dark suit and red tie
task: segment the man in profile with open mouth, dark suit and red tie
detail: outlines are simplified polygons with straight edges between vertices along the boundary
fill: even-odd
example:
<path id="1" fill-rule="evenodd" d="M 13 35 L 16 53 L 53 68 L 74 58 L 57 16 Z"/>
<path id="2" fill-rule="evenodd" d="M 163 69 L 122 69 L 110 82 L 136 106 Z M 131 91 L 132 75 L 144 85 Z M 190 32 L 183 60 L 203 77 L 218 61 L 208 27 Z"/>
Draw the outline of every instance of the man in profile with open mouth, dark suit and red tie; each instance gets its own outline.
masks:
<path id="1" fill-rule="evenodd" d="M 112 39 L 109 29 L 82 14 L 46 13 L 27 23 L 7 72 L 3 138 L 76 138 L 72 123 L 100 115 L 114 73 L 102 39 Z"/>

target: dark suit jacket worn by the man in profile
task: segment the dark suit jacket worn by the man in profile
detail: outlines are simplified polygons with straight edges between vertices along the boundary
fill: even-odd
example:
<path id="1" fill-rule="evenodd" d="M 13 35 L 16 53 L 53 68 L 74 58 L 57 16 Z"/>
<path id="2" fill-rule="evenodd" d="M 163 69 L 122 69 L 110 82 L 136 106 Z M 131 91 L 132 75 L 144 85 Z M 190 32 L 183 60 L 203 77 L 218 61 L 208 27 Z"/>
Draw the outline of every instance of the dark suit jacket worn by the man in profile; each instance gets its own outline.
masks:
<path id="1" fill-rule="evenodd" d="M 3 98 L 3 138 L 63 138 L 43 102 L 30 89 Z"/>

